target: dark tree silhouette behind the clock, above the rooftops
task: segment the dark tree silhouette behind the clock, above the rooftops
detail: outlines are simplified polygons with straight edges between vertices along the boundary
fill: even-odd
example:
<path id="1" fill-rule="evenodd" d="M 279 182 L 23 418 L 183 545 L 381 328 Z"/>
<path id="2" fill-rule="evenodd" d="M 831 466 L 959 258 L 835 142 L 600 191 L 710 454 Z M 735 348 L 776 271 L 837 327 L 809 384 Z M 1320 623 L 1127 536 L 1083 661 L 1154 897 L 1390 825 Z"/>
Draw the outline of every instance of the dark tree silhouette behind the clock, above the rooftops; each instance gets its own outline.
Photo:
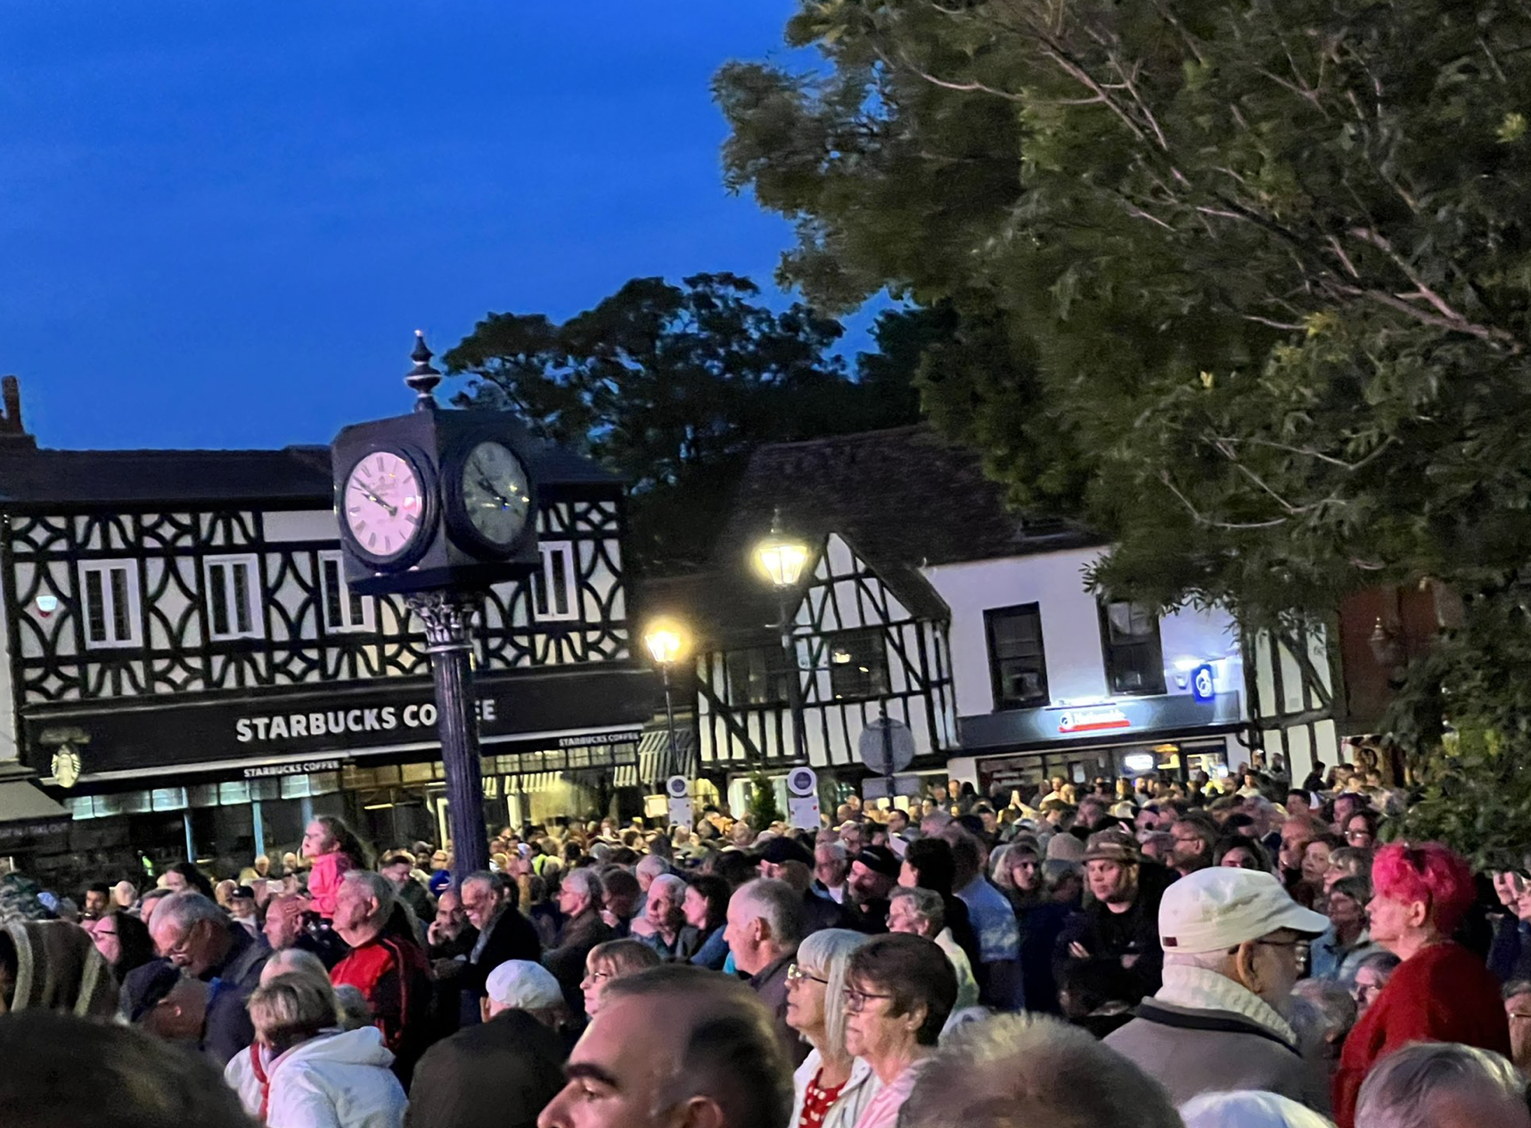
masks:
<path id="1" fill-rule="evenodd" d="M 917 334 L 912 317 L 891 311 L 876 335 Z M 749 279 L 697 274 L 634 279 L 563 323 L 490 314 L 444 360 L 468 380 L 462 403 L 511 407 L 626 479 L 638 562 L 675 568 L 706 560 L 756 444 L 912 421 L 908 349 L 863 354 L 857 383 L 841 335 L 802 303 L 770 309 Z"/>

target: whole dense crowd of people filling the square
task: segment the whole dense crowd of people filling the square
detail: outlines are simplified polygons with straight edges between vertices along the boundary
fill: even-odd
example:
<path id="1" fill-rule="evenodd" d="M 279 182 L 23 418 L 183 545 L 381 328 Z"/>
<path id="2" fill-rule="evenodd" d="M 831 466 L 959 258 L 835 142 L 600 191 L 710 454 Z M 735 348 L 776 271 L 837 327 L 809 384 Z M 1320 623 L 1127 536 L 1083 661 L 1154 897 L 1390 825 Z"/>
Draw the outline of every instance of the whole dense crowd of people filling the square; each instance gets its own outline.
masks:
<path id="1" fill-rule="evenodd" d="M 1059 778 L 456 875 L 328 816 L 217 882 L 9 874 L 0 1123 L 1531 1128 L 1526 874 L 1386 840 L 1405 802 Z"/>

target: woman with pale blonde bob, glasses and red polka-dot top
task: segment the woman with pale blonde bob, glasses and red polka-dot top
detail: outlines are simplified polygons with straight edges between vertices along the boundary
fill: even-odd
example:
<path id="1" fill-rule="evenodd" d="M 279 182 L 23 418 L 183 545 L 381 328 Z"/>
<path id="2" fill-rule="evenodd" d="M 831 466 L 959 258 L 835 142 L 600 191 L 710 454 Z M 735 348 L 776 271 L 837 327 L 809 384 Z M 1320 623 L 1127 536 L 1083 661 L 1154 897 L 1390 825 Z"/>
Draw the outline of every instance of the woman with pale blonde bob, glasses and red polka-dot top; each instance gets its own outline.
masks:
<path id="1" fill-rule="evenodd" d="M 798 946 L 787 969 L 787 1025 L 813 1050 L 793 1074 L 788 1128 L 854 1128 L 871 1093 L 871 1065 L 845 1048 L 845 969 L 868 937 L 824 929 Z"/>

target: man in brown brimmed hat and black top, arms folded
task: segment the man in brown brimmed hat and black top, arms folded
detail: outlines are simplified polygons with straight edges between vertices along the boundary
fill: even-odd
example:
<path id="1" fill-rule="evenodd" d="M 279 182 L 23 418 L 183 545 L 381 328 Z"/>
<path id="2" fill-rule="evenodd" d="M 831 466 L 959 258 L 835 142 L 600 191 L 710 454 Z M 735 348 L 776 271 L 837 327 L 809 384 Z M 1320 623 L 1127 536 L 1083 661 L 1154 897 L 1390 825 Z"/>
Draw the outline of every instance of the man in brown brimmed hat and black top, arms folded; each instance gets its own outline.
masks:
<path id="1" fill-rule="evenodd" d="M 1134 990 L 1159 990 L 1164 950 L 1159 947 L 1159 897 L 1170 882 L 1162 866 L 1145 865 L 1130 831 L 1112 828 L 1090 836 L 1084 874 L 1093 900 L 1058 937 L 1056 967 L 1063 981 L 1069 960 L 1116 960 L 1133 972 Z M 1122 999 L 1136 1002 L 1138 999 Z"/>

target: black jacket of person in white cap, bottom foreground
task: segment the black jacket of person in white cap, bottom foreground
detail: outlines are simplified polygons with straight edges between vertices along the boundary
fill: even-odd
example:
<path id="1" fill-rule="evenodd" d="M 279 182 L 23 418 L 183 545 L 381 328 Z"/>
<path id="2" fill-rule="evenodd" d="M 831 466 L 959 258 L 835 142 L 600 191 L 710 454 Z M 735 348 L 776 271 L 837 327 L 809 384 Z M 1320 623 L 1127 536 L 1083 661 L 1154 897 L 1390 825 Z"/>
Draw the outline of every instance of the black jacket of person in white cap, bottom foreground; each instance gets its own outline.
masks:
<path id="1" fill-rule="evenodd" d="M 563 1088 L 563 1041 L 524 1010 L 436 1042 L 415 1067 L 406 1128 L 533 1128 Z"/>

